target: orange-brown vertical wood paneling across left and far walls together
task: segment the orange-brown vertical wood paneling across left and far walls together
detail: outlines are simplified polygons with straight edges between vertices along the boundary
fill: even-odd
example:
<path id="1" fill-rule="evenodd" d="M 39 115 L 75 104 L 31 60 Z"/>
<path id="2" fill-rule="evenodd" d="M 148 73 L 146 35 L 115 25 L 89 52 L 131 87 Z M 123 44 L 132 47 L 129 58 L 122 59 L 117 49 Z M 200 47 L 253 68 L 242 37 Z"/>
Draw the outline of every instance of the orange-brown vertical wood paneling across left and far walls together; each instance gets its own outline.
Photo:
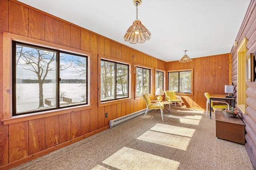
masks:
<path id="1" fill-rule="evenodd" d="M 4 119 L 3 34 L 15 35 L 62 45 L 90 53 L 90 106 L 65 109 L 24 121 L 0 123 L 0 169 L 8 169 L 38 156 L 84 139 L 109 128 L 109 120 L 146 108 L 141 97 L 135 98 L 135 74 L 131 74 L 131 98 L 98 103 L 99 56 L 144 65 L 154 69 L 194 68 L 194 94 L 182 96 L 184 106 L 206 108 L 204 92 L 224 93 L 228 84 L 228 54 L 193 59 L 180 64 L 166 63 L 136 49 L 117 43 L 85 28 L 22 4 L 0 0 L 0 119 Z M 135 59 L 132 57 L 135 55 Z M 131 64 L 133 66 L 133 64 Z M 132 68 L 133 69 L 133 68 Z M 11 77 L 9 77 L 11 79 Z M 152 92 L 155 89 L 152 86 Z M 154 95 L 150 95 L 155 100 Z M 108 117 L 105 118 L 105 113 Z M 10 113 L 11 117 L 11 113 Z M 22 119 L 23 120 L 23 119 Z M 12 121 L 10 121 L 12 122 Z"/>

